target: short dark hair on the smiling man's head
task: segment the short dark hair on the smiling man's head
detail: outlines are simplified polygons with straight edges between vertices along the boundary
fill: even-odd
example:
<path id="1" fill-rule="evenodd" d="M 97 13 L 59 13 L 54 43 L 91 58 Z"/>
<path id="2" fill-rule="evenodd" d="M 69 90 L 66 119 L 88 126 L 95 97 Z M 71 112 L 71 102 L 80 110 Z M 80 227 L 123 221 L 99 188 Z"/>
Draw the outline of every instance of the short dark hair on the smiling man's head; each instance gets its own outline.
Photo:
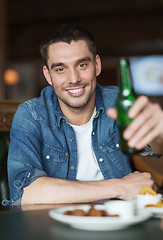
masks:
<path id="1" fill-rule="evenodd" d="M 70 44 L 71 41 L 79 40 L 85 40 L 87 42 L 89 50 L 95 58 L 97 54 L 97 49 L 96 42 L 92 34 L 85 28 L 76 24 L 63 24 L 58 26 L 53 31 L 49 32 L 43 43 L 40 45 L 40 53 L 43 58 L 44 64 L 48 67 L 48 48 L 52 43 L 66 42 Z"/>

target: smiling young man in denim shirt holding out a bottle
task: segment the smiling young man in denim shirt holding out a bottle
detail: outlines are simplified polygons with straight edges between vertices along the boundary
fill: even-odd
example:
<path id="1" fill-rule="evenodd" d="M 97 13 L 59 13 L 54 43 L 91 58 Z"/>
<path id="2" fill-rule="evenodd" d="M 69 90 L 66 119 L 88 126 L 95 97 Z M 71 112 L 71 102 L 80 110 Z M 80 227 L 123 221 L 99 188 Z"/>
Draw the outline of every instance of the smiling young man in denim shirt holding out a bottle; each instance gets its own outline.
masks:
<path id="1" fill-rule="evenodd" d="M 50 86 L 20 105 L 13 119 L 7 204 L 134 199 L 143 186 L 153 186 L 149 173 L 131 173 L 121 153 L 113 119 L 118 88 L 97 84 L 101 61 L 91 34 L 59 26 L 42 44 L 41 55 Z M 151 143 L 162 153 L 161 108 L 140 97 L 130 115 L 129 144 L 144 148 Z M 154 154 L 150 147 L 145 153 Z"/>

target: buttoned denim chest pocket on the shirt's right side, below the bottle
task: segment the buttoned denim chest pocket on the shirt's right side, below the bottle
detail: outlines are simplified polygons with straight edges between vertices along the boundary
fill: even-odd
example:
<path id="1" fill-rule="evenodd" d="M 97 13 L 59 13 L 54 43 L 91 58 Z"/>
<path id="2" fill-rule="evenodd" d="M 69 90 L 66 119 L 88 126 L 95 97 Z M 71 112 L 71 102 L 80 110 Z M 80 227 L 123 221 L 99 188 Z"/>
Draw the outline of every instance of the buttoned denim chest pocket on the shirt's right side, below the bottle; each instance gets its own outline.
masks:
<path id="1" fill-rule="evenodd" d="M 118 132 L 114 133 L 111 138 L 100 146 L 100 148 L 118 170 L 125 171 L 129 168 L 128 158 L 121 152 Z"/>

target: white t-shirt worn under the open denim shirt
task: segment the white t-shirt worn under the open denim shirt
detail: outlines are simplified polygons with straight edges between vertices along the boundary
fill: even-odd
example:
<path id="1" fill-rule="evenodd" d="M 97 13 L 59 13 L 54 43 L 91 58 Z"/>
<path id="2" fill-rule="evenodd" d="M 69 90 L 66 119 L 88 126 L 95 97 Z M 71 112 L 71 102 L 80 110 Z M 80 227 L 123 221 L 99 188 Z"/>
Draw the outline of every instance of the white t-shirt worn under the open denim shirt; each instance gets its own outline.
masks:
<path id="1" fill-rule="evenodd" d="M 104 177 L 98 166 L 96 156 L 92 148 L 92 123 L 96 109 L 88 123 L 82 126 L 71 125 L 77 138 L 78 167 L 77 180 L 94 181 L 103 180 Z"/>

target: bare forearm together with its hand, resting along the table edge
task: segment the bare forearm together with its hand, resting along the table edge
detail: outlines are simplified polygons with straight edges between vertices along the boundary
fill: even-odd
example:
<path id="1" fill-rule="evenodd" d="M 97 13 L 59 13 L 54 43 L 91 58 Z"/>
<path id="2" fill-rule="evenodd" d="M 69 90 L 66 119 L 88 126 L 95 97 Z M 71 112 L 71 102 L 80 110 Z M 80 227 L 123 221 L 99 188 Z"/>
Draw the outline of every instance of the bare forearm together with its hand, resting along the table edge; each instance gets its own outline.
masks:
<path id="1" fill-rule="evenodd" d="M 109 198 L 131 200 L 142 187 L 153 184 L 149 173 L 139 172 L 121 179 L 90 182 L 40 177 L 24 188 L 21 204 L 84 203 Z"/>

